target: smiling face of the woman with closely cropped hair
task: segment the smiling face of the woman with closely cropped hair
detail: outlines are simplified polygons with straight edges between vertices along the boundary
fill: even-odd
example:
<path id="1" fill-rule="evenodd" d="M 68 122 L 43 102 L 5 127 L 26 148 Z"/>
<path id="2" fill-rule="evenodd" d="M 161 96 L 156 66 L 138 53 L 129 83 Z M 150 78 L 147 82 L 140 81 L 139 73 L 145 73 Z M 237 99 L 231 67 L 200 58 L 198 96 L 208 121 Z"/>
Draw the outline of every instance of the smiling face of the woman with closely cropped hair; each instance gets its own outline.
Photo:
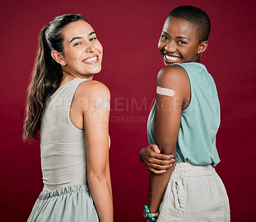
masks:
<path id="1" fill-rule="evenodd" d="M 204 52 L 208 42 L 198 42 L 196 28 L 184 19 L 170 17 L 164 22 L 158 49 L 164 65 L 199 62 L 198 53 Z"/>

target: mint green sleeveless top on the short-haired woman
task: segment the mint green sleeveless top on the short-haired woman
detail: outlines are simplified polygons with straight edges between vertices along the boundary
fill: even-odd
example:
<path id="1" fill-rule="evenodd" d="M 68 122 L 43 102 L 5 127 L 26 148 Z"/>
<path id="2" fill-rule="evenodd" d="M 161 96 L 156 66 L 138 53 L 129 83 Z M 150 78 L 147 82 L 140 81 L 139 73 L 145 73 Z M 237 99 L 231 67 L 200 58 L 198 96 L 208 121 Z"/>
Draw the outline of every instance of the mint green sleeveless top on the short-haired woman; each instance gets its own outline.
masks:
<path id="1" fill-rule="evenodd" d="M 191 101 L 181 112 L 177 139 L 177 163 L 206 165 L 220 163 L 216 134 L 220 127 L 220 102 L 212 76 L 201 63 L 175 63 L 186 70 L 191 86 Z M 156 102 L 148 116 L 149 143 L 155 143 L 154 118 Z"/>

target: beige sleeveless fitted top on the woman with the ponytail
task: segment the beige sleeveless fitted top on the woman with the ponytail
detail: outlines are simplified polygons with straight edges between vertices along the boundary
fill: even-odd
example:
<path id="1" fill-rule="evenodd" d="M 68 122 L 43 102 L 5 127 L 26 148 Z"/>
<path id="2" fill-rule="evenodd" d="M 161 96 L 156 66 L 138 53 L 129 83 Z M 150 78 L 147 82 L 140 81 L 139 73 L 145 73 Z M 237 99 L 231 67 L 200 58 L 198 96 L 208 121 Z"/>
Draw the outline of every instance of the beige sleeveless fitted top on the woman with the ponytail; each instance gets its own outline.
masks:
<path id="1" fill-rule="evenodd" d="M 69 117 L 74 93 L 83 81 L 88 79 L 75 78 L 61 86 L 45 106 L 40 129 L 44 192 L 88 184 L 85 131 L 75 127 Z"/>

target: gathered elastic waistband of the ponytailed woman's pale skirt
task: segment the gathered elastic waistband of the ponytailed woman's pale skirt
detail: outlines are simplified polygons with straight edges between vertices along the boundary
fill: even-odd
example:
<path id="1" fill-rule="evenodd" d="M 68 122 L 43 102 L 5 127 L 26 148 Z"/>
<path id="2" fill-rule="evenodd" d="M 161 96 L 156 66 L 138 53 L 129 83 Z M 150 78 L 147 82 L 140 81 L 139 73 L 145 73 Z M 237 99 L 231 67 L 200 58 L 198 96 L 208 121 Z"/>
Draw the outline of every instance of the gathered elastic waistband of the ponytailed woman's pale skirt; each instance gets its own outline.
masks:
<path id="1" fill-rule="evenodd" d="M 67 193 L 74 193 L 74 192 L 90 192 L 90 188 L 86 184 L 81 184 L 81 185 L 72 185 L 72 186 L 66 186 L 66 187 L 60 187 L 58 189 L 54 189 L 49 192 L 44 192 L 42 191 L 38 197 L 39 200 L 46 200 L 49 199 L 53 196 L 61 196 L 63 194 Z"/>

